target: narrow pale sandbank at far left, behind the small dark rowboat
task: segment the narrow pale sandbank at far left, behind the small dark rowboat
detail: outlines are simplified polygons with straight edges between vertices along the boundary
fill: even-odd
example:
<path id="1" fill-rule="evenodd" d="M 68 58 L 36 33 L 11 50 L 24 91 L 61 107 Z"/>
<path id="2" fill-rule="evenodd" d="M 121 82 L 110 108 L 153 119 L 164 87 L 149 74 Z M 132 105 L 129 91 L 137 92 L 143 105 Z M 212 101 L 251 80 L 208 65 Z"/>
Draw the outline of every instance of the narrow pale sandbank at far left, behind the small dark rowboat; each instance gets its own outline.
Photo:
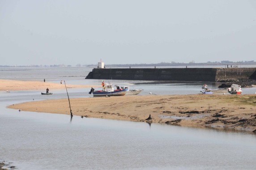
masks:
<path id="1" fill-rule="evenodd" d="M 91 85 L 69 85 L 67 88 L 89 88 Z M 94 85 L 95 86 L 95 85 Z M 41 89 L 63 89 L 65 88 L 64 81 L 60 83 L 51 83 L 44 81 L 17 81 L 17 80 L 2 80 L 0 79 L 0 91 L 12 90 L 41 90 Z"/>

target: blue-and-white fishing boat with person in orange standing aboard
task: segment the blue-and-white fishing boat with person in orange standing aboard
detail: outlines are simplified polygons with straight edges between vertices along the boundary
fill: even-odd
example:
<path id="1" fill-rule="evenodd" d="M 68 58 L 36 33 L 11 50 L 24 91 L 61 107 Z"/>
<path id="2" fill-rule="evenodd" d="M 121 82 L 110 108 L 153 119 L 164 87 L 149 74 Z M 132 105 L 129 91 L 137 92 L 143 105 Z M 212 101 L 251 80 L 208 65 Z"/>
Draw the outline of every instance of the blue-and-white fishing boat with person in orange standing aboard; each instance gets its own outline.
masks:
<path id="1" fill-rule="evenodd" d="M 102 81 L 102 90 L 92 91 L 94 96 L 124 96 L 128 89 L 115 89 L 111 83 Z"/>

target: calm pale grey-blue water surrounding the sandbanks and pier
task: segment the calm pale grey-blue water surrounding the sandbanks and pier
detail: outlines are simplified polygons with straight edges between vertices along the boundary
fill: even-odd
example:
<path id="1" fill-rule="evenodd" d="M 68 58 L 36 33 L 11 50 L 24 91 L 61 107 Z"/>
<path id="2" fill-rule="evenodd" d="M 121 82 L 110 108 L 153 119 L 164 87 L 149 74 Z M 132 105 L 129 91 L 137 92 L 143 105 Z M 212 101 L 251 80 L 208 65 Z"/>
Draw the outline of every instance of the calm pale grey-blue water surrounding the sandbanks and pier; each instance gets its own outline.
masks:
<path id="1" fill-rule="evenodd" d="M 0 71 L 0 79 L 42 80 L 99 85 L 87 80 L 92 68 L 21 68 Z M 111 80 L 110 80 L 111 81 Z M 139 95 L 200 93 L 205 82 L 116 81 L 144 89 Z M 218 84 L 207 82 L 215 89 Z M 50 89 L 51 90 L 51 89 Z M 68 89 L 70 98 L 92 97 L 88 89 Z M 19 170 L 253 170 L 256 135 L 210 128 L 188 128 L 68 115 L 25 112 L 6 106 L 34 100 L 67 98 L 66 91 L 0 91 L 0 158 Z M 243 92 L 255 93 L 255 88 Z M 245 93 L 246 93 L 245 92 Z M 245 94 L 244 93 L 244 94 Z"/>

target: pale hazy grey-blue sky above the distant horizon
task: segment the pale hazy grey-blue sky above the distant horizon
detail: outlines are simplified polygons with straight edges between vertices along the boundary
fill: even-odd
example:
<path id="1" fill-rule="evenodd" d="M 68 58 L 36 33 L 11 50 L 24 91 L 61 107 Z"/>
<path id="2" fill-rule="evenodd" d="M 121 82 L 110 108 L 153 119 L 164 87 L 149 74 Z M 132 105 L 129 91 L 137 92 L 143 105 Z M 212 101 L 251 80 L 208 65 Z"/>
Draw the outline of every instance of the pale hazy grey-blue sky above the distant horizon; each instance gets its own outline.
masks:
<path id="1" fill-rule="evenodd" d="M 256 61 L 256 0 L 0 0 L 0 65 Z"/>

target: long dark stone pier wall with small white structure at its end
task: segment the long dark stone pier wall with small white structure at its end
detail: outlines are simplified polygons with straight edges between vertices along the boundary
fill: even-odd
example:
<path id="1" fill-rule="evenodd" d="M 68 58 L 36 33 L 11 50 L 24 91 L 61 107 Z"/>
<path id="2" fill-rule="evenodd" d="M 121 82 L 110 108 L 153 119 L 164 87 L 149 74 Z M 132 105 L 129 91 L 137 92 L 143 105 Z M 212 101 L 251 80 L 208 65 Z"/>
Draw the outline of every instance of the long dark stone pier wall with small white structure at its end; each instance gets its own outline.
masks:
<path id="1" fill-rule="evenodd" d="M 148 81 L 256 80 L 256 68 L 94 68 L 86 78 Z"/>

